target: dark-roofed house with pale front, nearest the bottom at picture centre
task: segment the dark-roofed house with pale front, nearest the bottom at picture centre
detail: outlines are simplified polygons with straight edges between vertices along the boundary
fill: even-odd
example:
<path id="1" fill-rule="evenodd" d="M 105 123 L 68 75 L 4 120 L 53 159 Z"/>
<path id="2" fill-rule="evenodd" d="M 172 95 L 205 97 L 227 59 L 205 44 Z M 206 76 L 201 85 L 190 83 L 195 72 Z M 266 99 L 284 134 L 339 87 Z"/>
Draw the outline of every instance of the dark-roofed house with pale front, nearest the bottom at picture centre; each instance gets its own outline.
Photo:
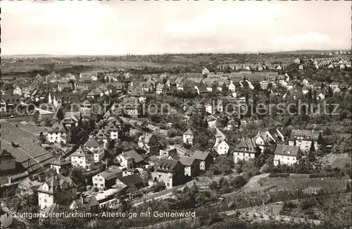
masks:
<path id="1" fill-rule="evenodd" d="M 184 181 L 184 166 L 180 161 L 160 159 L 154 169 L 156 173 L 153 179 L 164 182 L 167 189 L 181 185 Z"/>

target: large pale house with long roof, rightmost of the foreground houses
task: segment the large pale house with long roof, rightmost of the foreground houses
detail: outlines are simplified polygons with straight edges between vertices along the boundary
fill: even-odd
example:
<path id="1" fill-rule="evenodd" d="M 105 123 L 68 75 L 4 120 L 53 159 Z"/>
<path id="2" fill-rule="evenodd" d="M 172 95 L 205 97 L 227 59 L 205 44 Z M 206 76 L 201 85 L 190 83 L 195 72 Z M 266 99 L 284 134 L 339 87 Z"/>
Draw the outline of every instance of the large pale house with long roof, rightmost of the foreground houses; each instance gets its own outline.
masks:
<path id="1" fill-rule="evenodd" d="M 321 132 L 315 130 L 292 130 L 289 137 L 289 145 L 298 146 L 301 151 L 309 151 L 312 143 L 315 149 L 318 149 L 322 141 Z"/>

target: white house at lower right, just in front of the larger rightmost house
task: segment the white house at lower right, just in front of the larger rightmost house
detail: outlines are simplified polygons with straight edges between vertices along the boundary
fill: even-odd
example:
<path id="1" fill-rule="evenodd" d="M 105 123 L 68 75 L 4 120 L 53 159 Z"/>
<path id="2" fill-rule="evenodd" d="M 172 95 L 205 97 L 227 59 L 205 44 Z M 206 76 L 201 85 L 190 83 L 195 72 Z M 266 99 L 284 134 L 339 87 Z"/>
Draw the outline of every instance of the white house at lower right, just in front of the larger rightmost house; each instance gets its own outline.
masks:
<path id="1" fill-rule="evenodd" d="M 291 166 L 294 163 L 297 163 L 301 156 L 300 152 L 298 146 L 278 144 L 274 153 L 274 166 L 280 164 Z"/>

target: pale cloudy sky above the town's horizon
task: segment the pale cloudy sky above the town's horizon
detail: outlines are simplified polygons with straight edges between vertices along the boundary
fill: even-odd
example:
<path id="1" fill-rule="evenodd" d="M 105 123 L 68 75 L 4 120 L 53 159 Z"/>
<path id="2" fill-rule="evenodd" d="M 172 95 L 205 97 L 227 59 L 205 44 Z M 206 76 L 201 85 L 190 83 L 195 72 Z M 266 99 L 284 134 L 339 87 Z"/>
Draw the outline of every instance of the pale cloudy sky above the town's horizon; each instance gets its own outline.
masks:
<path id="1" fill-rule="evenodd" d="M 1 54 L 351 49 L 350 1 L 0 1 Z"/>

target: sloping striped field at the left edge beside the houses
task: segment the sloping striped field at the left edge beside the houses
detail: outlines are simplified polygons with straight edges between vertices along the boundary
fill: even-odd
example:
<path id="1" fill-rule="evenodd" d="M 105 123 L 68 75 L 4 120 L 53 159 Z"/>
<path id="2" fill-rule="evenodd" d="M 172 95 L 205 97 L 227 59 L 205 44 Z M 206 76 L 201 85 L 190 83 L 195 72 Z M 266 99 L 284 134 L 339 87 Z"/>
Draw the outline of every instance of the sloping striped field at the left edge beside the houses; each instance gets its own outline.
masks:
<path id="1" fill-rule="evenodd" d="M 1 121 L 1 149 L 11 152 L 16 161 L 29 172 L 54 161 L 54 156 L 41 147 L 37 136 L 30 132 L 33 130 L 22 129 L 20 125 L 16 128 L 13 123 Z M 15 142 L 19 147 L 12 147 L 11 142 Z"/>

